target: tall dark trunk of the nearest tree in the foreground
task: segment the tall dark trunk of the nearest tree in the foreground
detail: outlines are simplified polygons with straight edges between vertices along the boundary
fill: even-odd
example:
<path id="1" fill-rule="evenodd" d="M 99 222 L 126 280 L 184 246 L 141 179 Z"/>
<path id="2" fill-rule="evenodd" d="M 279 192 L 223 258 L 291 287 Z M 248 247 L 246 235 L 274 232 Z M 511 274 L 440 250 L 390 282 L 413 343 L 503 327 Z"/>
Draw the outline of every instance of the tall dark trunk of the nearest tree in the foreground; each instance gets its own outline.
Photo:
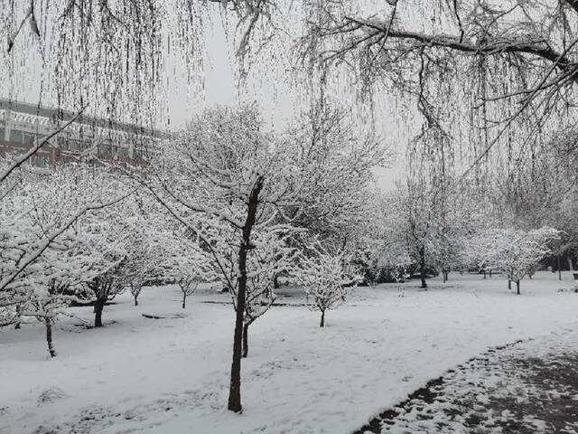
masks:
<path id="1" fill-rule="evenodd" d="M 241 405 L 241 356 L 243 351 L 243 316 L 245 316 L 245 297 L 247 293 L 247 250 L 251 246 L 251 231 L 255 225 L 259 193 L 263 188 L 263 178 L 258 177 L 249 194 L 247 220 L 243 226 L 243 241 L 238 250 L 238 291 L 235 335 L 233 336 L 233 361 L 231 363 L 231 382 L 228 391 L 228 410 L 239 412 Z"/>

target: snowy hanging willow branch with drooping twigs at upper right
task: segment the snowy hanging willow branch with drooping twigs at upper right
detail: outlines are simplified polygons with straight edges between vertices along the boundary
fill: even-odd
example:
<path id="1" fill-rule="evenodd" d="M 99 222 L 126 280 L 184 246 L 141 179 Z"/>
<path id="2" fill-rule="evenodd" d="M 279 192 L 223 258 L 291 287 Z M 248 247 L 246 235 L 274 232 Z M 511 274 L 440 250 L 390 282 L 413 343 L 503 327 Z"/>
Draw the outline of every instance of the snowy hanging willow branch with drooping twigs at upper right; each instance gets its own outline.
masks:
<path id="1" fill-rule="evenodd" d="M 536 129 L 547 135 L 573 122 L 576 0 L 390 2 L 389 11 L 374 14 L 351 0 L 320 3 L 325 7 L 315 12 L 324 16 L 308 21 L 303 50 L 309 40 L 321 41 L 318 57 L 326 71 L 345 66 L 369 92 L 385 85 L 414 98 L 425 128 L 472 144 L 459 163 L 464 176 L 501 147 L 506 132 L 509 143 L 514 139 L 521 148 L 539 140 Z M 480 128 L 486 132 L 480 135 Z M 416 140 L 421 137 L 423 130 Z M 423 158 L 439 148 L 428 142 Z M 470 147 L 457 141 L 452 146 Z"/>

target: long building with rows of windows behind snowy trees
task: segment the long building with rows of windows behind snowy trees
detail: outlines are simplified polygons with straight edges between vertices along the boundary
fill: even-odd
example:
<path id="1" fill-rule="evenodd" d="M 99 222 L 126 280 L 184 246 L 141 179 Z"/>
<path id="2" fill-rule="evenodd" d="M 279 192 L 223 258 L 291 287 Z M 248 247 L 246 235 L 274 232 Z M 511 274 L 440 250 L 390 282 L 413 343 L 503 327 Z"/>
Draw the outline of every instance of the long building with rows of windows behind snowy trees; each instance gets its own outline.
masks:
<path id="1" fill-rule="evenodd" d="M 0 155 L 22 154 L 75 114 L 0 98 Z M 144 164 L 154 143 L 168 134 L 152 128 L 81 115 L 31 159 L 46 166 L 57 161 L 97 157 L 107 162 Z"/>

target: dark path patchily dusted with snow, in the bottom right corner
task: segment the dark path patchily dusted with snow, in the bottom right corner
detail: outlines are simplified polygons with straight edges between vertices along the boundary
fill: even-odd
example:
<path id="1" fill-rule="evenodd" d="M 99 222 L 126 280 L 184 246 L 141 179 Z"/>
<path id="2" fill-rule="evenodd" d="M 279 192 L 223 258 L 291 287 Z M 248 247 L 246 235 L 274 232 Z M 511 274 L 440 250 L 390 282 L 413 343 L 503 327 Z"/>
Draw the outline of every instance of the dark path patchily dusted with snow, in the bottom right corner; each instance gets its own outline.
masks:
<path id="1" fill-rule="evenodd" d="M 578 335 L 568 330 L 489 350 L 362 433 L 578 433 Z"/>

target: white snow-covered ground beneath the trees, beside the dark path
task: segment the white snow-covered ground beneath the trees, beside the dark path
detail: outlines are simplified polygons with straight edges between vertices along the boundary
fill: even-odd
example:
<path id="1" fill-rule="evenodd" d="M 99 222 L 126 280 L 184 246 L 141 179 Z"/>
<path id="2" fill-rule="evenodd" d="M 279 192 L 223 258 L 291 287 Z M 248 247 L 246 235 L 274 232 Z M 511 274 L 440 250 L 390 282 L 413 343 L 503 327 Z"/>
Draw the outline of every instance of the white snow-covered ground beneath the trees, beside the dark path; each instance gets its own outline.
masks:
<path id="1" fill-rule="evenodd" d="M 575 333 L 578 294 L 564 278 L 538 273 L 521 296 L 502 277 L 457 273 L 428 291 L 356 288 L 325 328 L 305 307 L 274 307 L 251 327 L 240 415 L 226 410 L 233 308 L 203 303 L 228 296 L 205 291 L 186 316 L 149 319 L 181 314 L 180 294 L 144 288 L 139 307 L 130 294 L 107 306 L 103 329 L 62 319 L 53 360 L 42 325 L 0 331 L 0 432 L 349 433 L 489 346 Z"/>

